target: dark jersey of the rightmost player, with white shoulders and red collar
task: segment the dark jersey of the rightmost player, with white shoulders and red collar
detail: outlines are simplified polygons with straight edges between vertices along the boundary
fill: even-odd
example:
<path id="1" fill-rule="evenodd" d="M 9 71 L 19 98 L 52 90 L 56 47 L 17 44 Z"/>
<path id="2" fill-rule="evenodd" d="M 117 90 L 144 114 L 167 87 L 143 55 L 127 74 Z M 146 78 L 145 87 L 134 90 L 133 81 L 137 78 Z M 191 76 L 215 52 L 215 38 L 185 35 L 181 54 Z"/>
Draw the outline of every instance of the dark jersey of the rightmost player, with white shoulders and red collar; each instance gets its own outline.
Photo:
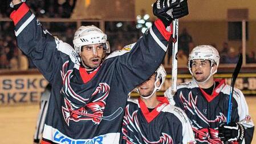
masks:
<path id="1" fill-rule="evenodd" d="M 212 96 L 198 87 L 194 80 L 178 85 L 174 96 L 170 95 L 170 88 L 165 92 L 170 103 L 184 110 L 188 116 L 197 143 L 222 143 L 218 138 L 218 126 L 226 122 L 230 85 L 224 79 L 215 81 L 220 84 L 214 89 Z M 234 88 L 232 102 L 231 121 L 245 126 L 246 134 L 241 143 L 250 143 L 254 124 L 241 90 Z"/>

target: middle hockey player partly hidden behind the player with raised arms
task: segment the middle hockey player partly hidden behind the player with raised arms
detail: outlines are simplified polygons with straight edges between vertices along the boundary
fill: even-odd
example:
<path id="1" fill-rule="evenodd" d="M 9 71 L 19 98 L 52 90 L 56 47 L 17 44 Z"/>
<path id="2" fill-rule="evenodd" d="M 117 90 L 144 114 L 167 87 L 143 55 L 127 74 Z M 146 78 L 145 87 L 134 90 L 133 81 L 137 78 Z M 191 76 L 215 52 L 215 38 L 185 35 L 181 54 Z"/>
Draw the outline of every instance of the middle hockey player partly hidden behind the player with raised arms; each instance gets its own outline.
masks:
<path id="1" fill-rule="evenodd" d="M 162 65 L 137 87 L 139 98 L 128 98 L 121 143 L 195 143 L 186 114 L 170 105 L 168 98 L 157 97 L 165 81 Z"/>

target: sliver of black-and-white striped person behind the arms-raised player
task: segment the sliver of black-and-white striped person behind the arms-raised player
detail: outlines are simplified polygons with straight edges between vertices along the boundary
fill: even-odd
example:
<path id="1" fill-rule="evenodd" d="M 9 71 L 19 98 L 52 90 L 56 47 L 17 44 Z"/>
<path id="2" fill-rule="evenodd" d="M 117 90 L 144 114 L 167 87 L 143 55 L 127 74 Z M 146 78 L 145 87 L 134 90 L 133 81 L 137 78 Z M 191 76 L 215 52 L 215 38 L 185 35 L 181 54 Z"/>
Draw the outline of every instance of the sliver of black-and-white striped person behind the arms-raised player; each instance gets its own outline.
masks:
<path id="1" fill-rule="evenodd" d="M 48 109 L 48 103 L 51 94 L 51 84 L 47 84 L 40 98 L 40 112 L 36 121 L 34 144 L 39 143 L 42 139 L 43 126 L 46 119 L 46 113 Z"/>

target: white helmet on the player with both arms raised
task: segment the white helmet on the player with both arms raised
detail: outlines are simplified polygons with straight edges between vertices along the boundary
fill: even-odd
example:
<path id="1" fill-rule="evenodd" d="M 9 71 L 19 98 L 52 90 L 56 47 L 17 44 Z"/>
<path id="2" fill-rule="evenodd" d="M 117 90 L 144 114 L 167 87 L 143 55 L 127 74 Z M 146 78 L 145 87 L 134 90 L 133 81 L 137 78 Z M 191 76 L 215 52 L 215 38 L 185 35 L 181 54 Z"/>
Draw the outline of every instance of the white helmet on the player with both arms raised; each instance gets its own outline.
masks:
<path id="1" fill-rule="evenodd" d="M 96 26 L 80 26 L 75 32 L 73 40 L 75 51 L 77 54 L 81 52 L 81 48 L 90 44 L 104 43 L 104 52 L 109 53 L 110 47 L 107 41 L 107 35 Z"/>

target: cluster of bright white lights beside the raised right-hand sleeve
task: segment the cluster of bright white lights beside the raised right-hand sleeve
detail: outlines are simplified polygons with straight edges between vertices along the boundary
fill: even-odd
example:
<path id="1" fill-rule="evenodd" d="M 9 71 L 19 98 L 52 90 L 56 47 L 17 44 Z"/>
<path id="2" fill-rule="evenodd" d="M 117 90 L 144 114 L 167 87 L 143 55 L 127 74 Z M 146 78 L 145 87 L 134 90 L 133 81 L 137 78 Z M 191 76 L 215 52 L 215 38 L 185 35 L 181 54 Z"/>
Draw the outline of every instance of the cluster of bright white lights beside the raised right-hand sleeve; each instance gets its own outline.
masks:
<path id="1" fill-rule="evenodd" d="M 149 27 L 152 26 L 152 22 L 150 21 L 149 18 L 150 18 L 149 14 L 143 15 L 143 17 L 141 17 L 141 15 L 137 15 L 136 17 L 137 19 L 136 28 L 141 29 L 142 33 L 144 33 Z"/>

